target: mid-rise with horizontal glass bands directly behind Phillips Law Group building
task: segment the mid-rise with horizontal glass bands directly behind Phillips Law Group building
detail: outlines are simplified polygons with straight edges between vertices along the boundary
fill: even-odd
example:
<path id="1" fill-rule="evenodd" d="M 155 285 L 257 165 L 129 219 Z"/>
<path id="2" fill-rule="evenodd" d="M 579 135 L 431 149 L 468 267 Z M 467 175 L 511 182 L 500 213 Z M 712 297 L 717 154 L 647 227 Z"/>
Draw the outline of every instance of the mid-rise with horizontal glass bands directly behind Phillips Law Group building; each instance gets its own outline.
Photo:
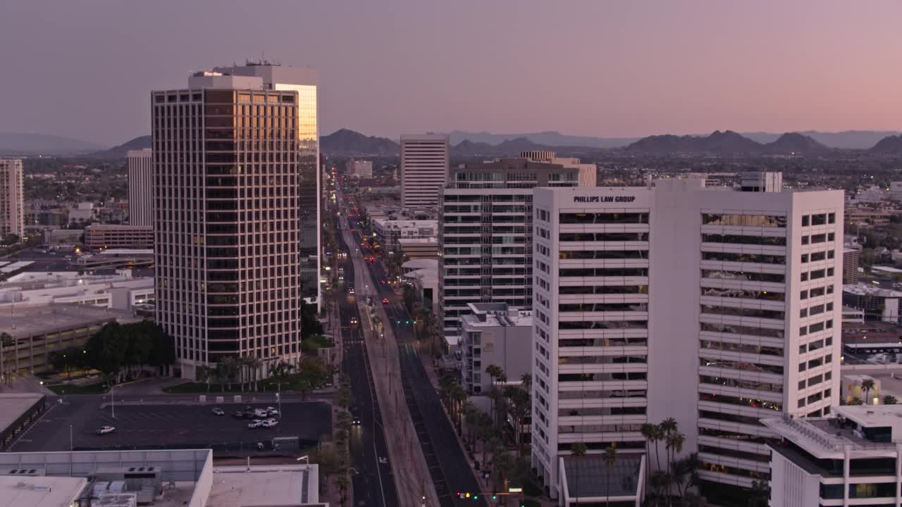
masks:
<path id="1" fill-rule="evenodd" d="M 451 169 L 439 207 L 439 293 L 449 345 L 457 343 L 469 303 L 532 308 L 533 189 L 575 187 L 578 180 L 578 168 L 526 159 Z M 465 386 L 472 387 L 468 380 Z"/>

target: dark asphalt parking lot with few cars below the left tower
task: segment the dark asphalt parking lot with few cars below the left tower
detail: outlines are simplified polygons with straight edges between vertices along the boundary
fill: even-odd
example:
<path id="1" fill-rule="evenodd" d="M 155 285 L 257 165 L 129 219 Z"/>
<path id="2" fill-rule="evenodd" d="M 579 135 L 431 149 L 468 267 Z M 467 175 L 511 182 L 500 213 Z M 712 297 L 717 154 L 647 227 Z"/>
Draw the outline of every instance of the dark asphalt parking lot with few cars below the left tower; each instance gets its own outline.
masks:
<path id="1" fill-rule="evenodd" d="M 245 406 L 265 408 L 269 404 L 207 405 L 116 405 L 115 419 L 109 406 L 54 407 L 10 449 L 12 451 L 63 451 L 113 448 L 213 448 L 217 453 L 255 451 L 257 442 L 269 448 L 273 437 L 298 437 L 300 445 L 315 444 L 330 433 L 331 410 L 322 402 L 283 402 L 280 424 L 272 429 L 248 429 L 250 419 L 235 419 L 232 412 Z M 213 407 L 226 410 L 225 416 L 212 413 Z M 115 431 L 97 435 L 97 429 L 113 426 Z"/>

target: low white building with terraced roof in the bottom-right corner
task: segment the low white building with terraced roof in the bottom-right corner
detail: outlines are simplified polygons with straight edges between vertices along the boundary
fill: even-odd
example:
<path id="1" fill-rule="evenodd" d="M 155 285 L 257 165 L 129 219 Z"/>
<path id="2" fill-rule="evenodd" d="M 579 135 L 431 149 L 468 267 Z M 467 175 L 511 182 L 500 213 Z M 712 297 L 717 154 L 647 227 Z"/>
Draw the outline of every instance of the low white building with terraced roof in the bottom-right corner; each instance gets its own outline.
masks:
<path id="1" fill-rule="evenodd" d="M 832 417 L 762 419 L 770 507 L 899 505 L 902 405 L 834 407 Z"/>

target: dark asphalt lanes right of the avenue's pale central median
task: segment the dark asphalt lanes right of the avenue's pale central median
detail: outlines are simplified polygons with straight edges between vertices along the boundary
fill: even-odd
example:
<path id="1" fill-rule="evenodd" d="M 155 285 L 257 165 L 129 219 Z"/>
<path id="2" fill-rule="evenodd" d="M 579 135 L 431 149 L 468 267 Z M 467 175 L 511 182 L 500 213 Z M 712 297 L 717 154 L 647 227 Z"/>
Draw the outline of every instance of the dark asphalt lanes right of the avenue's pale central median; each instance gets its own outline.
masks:
<path id="1" fill-rule="evenodd" d="M 354 232 L 359 239 L 359 231 Z M 446 417 L 438 393 L 429 380 L 426 368 L 414 348 L 413 327 L 405 324 L 410 314 L 403 308 L 394 292 L 380 281 L 386 280 L 386 273 L 379 263 L 367 263 L 378 285 L 376 297 L 388 298 L 385 306 L 394 336 L 398 341 L 404 395 L 414 420 L 423 455 L 426 456 L 429 474 L 436 486 L 438 500 L 446 505 L 486 505 L 479 501 L 461 500 L 456 493 L 480 491 L 474 476 L 474 469 L 458 443 L 455 429 Z M 398 323 L 400 321 L 400 324 Z"/>

